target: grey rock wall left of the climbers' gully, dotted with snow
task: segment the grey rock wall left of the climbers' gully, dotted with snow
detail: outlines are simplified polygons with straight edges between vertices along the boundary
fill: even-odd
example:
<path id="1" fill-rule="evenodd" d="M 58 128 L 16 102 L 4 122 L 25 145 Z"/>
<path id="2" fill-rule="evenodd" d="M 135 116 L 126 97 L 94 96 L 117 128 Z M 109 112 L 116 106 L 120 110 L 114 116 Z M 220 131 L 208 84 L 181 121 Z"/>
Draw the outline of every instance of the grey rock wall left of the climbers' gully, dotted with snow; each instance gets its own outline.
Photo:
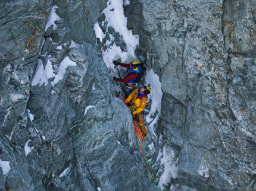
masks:
<path id="1" fill-rule="evenodd" d="M 53 6 L 61 19 L 45 31 Z M 0 168 L 1 190 L 155 189 L 141 165 L 129 109 L 113 96 L 96 45 L 93 23 L 106 6 L 1 3 L 0 158 L 10 161 L 8 173 Z M 46 69 L 50 61 L 57 75 L 66 56 L 76 65 L 65 69 L 61 81 L 32 84 L 40 62 Z"/>

